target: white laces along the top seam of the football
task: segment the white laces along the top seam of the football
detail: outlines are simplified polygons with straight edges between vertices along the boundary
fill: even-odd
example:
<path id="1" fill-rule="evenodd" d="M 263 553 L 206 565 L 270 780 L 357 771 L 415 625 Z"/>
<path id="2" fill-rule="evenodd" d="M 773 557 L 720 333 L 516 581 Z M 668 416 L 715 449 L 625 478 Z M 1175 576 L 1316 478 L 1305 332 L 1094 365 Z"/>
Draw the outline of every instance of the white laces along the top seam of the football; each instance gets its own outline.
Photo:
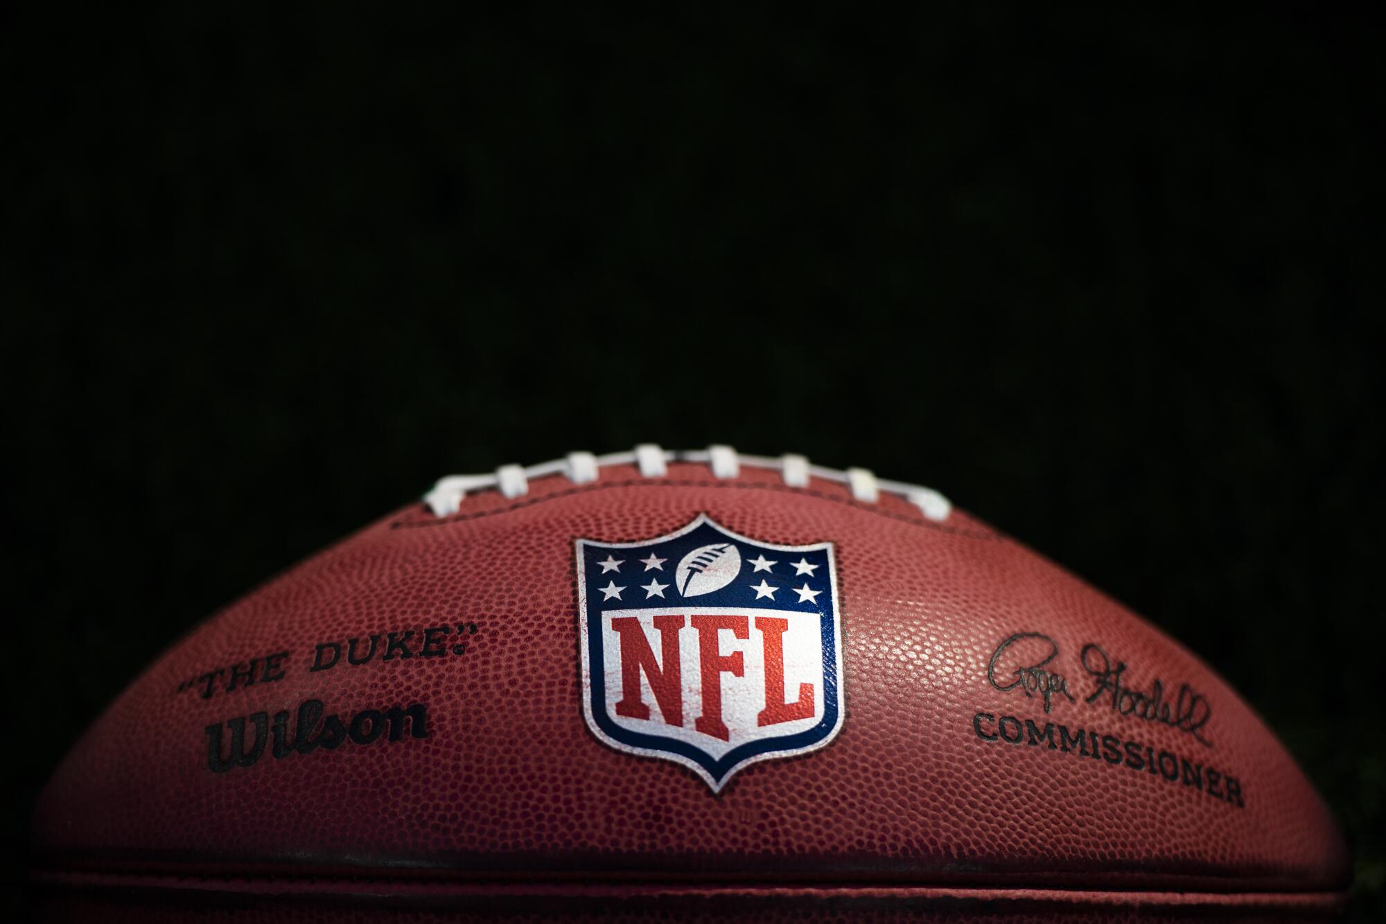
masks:
<path id="1" fill-rule="evenodd" d="M 541 462 L 539 465 L 502 465 L 491 474 L 449 474 L 438 479 L 432 490 L 424 494 L 424 504 L 435 516 L 450 516 L 462 506 L 462 499 L 475 491 L 495 488 L 505 497 L 523 497 L 529 491 L 531 479 L 546 474 L 565 474 L 574 484 L 586 484 L 596 480 L 597 469 L 604 465 L 635 465 L 642 477 L 657 479 L 667 473 L 665 466 L 669 462 L 705 463 L 712 470 L 712 477 L 717 479 L 735 479 L 743 465 L 753 469 L 772 469 L 783 476 L 784 484 L 798 488 L 808 487 L 809 477 L 837 481 L 845 484 L 851 490 L 852 498 L 863 504 L 875 504 L 881 491 L 897 494 L 918 506 L 927 519 L 936 522 L 947 520 L 952 511 L 948 498 L 933 488 L 886 481 L 866 469 L 847 469 L 845 472 L 825 469 L 821 465 L 809 465 L 802 455 L 782 455 L 779 458 L 740 455 L 729 445 L 671 452 L 651 443 L 640 444 L 632 452 L 608 452 L 607 455 L 570 452 L 563 459 Z"/>

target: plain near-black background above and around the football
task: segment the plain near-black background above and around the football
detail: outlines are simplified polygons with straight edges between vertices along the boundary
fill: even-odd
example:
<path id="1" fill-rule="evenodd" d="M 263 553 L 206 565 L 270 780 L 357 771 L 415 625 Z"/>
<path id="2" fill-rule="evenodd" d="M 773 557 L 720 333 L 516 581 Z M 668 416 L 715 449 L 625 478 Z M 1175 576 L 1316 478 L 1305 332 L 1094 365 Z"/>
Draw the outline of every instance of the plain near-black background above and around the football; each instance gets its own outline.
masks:
<path id="1" fill-rule="evenodd" d="M 111 6 L 0 39 L 15 845 L 170 640 L 439 474 L 725 441 L 1146 613 L 1380 912 L 1376 22 Z"/>

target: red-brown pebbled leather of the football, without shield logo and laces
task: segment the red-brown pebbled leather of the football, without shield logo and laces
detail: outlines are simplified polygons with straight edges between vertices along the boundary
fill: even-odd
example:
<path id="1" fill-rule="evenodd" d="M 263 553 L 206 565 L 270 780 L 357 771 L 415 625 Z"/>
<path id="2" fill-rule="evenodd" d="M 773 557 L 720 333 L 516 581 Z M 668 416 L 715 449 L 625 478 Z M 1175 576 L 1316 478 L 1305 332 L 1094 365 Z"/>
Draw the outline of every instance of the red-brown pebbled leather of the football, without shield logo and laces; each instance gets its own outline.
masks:
<path id="1" fill-rule="evenodd" d="M 721 794 L 672 762 L 603 745 L 582 715 L 575 540 L 647 540 L 699 513 L 766 542 L 833 542 L 840 597 L 840 733 L 746 767 Z M 423 631 L 444 626 L 434 649 L 445 651 L 423 656 Z M 413 656 L 384 659 L 388 634 L 406 631 Z M 1055 694 L 1045 712 L 1038 691 L 988 680 L 1017 633 L 1048 641 L 1003 652 L 1001 680 L 1052 644 L 1044 667 L 1062 673 L 1071 699 Z M 320 642 L 358 638 L 363 653 L 371 634 L 381 651 L 367 663 L 342 653 L 310 670 Z M 1089 644 L 1127 665 L 1128 691 L 1160 681 L 1170 706 L 1186 685 L 1206 724 L 1123 715 L 1084 667 Z M 288 653 L 252 666 L 248 685 L 200 680 L 277 652 Z M 298 715 L 308 701 L 344 723 L 424 703 L 427 737 L 281 758 L 266 748 L 251 766 L 209 769 L 208 726 Z M 1033 742 L 1027 720 L 1040 735 L 1053 723 L 1058 742 L 1060 724 L 1110 738 L 1117 762 L 1112 748 Z M 1132 769 L 1125 742 L 1217 767 L 1242 805 L 1225 782 Z M 920 900 L 929 889 L 1059 889 L 1080 905 L 1112 892 L 1245 893 L 1265 910 L 1319 907 L 1349 878 L 1333 820 L 1260 719 L 1107 597 L 959 511 L 934 523 L 893 495 L 866 504 L 818 479 L 790 488 L 771 470 L 715 479 L 692 463 L 660 479 L 635 466 L 581 486 L 536 479 L 524 497 L 481 493 L 441 519 L 410 506 L 256 588 L 161 656 L 85 734 L 37 803 L 35 844 L 51 882 L 123 875 L 166 892 L 660 882 L 802 887 L 800 903 L 809 887 L 922 889 Z M 669 902 L 656 902 L 660 914 L 705 910 Z"/>

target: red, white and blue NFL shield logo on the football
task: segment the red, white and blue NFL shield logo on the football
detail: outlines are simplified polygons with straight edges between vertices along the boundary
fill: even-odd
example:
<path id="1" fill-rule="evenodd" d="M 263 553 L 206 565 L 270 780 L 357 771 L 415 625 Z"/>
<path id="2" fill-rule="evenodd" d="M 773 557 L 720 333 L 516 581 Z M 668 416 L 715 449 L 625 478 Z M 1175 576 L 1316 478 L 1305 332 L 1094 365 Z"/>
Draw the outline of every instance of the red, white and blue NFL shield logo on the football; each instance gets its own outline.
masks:
<path id="1" fill-rule="evenodd" d="M 719 792 L 843 724 L 832 542 L 773 545 L 699 516 L 643 542 L 578 540 L 584 712 L 628 753 Z"/>

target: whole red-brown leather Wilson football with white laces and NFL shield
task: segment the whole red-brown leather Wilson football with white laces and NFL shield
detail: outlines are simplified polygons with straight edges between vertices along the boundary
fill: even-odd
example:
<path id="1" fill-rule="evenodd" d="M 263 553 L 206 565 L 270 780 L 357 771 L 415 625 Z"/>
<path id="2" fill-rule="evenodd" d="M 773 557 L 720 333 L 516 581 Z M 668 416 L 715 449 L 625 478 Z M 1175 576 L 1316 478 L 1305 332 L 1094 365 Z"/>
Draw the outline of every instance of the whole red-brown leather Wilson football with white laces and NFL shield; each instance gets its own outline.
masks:
<path id="1" fill-rule="evenodd" d="M 653 445 L 444 479 L 215 615 L 35 857 L 115 920 L 1313 917 L 1349 880 L 1150 623 L 936 491 Z"/>

